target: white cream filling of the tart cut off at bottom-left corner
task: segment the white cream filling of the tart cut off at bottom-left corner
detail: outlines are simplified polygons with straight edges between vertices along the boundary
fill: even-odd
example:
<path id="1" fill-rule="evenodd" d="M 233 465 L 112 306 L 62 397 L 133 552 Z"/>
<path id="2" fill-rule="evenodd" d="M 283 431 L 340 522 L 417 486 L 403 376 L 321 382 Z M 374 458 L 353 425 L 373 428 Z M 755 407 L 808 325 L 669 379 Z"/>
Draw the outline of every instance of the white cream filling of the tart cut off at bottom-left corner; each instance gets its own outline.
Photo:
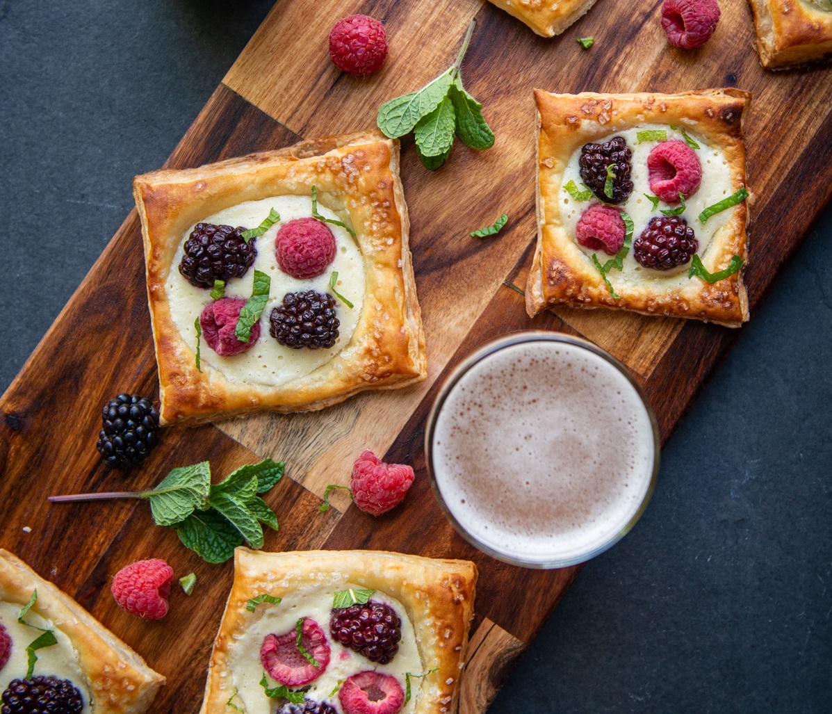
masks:
<path id="1" fill-rule="evenodd" d="M 26 648 L 40 637 L 42 634 L 35 627 L 27 627 L 17 622 L 17 615 L 20 613 L 21 606 L 12 602 L 0 602 L 0 623 L 6 628 L 9 637 L 12 638 L 12 656 L 9 657 L 5 666 L 0 669 L 0 692 L 8 687 L 12 679 L 23 679 L 26 677 L 28 669 L 28 657 Z M 78 653 L 72 647 L 72 642 L 61 630 L 52 625 L 52 622 L 45 620 L 43 617 L 32 612 L 27 612 L 24 618 L 36 627 L 52 630 L 57 639 L 57 645 L 52 647 L 42 647 L 35 652 L 37 655 L 37 662 L 33 677 L 57 677 L 58 679 L 68 679 L 72 685 L 77 688 L 78 692 L 84 700 L 83 712 L 92 712 L 90 704 L 90 690 L 87 684 L 87 677 L 81 669 L 81 663 L 78 660 Z"/>

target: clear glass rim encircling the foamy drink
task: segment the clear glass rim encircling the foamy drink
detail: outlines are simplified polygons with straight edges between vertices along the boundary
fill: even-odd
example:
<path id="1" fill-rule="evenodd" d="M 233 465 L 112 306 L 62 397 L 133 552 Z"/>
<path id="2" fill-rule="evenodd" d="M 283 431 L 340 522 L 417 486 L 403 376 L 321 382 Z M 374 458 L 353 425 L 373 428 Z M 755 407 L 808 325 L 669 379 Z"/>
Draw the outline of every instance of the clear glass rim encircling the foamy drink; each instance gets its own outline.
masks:
<path id="1" fill-rule="evenodd" d="M 435 469 L 433 468 L 433 434 L 436 429 L 436 424 L 438 420 L 438 415 L 443 408 L 443 404 L 448 399 L 448 395 L 453 391 L 453 388 L 458 384 L 459 380 L 463 378 L 468 371 L 473 368 L 475 364 L 479 364 L 483 359 L 487 359 L 490 355 L 497 353 L 500 350 L 505 350 L 508 347 L 512 347 L 513 345 L 521 345 L 522 343 L 526 342 L 557 342 L 561 344 L 567 344 L 575 346 L 579 349 L 588 350 L 592 352 L 592 354 L 601 357 L 602 359 L 606 360 L 609 364 L 612 364 L 614 368 L 616 368 L 621 374 L 624 375 L 627 382 L 631 384 L 633 389 L 635 389 L 636 394 L 638 395 L 639 399 L 641 399 L 641 404 L 644 405 L 646 410 L 647 418 L 650 421 L 651 430 L 653 434 L 653 469 L 650 476 L 650 482 L 647 484 L 647 489 L 644 494 L 644 497 L 641 498 L 641 503 L 639 503 L 638 508 L 636 508 L 635 513 L 629 518 L 626 524 L 622 527 L 617 529 L 614 533 L 610 535 L 609 538 L 605 538 L 604 541 L 598 544 L 596 547 L 591 548 L 585 552 L 577 553 L 576 555 L 569 557 L 569 558 L 550 558 L 546 561 L 541 560 L 524 560 L 522 558 L 515 558 L 511 555 L 507 555 L 505 553 L 501 553 L 498 550 L 495 550 L 491 546 L 488 546 L 485 543 L 482 543 L 478 540 L 478 538 L 474 537 L 471 533 L 468 533 L 468 530 L 463 527 L 461 523 L 458 522 L 457 518 L 454 517 L 453 513 L 451 513 L 450 508 L 448 508 L 448 504 L 445 502 L 445 498 L 443 497 L 442 491 L 438 486 Z M 474 548 L 490 555 L 492 558 L 496 558 L 497 560 L 503 563 L 509 563 L 511 565 L 518 565 L 522 568 L 534 568 L 537 570 L 550 570 L 552 568 L 566 568 L 571 565 L 578 565 L 579 563 L 586 563 L 588 560 L 595 558 L 597 555 L 604 553 L 609 548 L 612 548 L 613 545 L 618 543 L 624 536 L 630 532 L 631 528 L 636 524 L 639 518 L 641 518 L 641 514 L 644 513 L 647 503 L 650 502 L 650 498 L 653 494 L 653 490 L 656 488 L 656 481 L 658 479 L 659 474 L 659 457 L 661 452 L 661 438 L 659 434 L 659 425 L 656 421 L 656 414 L 653 411 L 653 408 L 650 404 L 649 399 L 647 399 L 644 390 L 641 389 L 641 385 L 636 382 L 636 379 L 633 378 L 632 374 L 630 374 L 629 370 L 626 369 L 624 364 L 622 364 L 618 359 L 610 355 L 606 350 L 602 350 L 602 348 L 598 347 L 594 343 L 590 342 L 589 340 L 585 340 L 582 337 L 577 337 L 574 335 L 567 335 L 562 332 L 546 332 L 543 330 L 523 330 L 521 332 L 513 332 L 509 335 L 503 335 L 502 337 L 498 337 L 495 340 L 491 340 L 486 345 L 483 345 L 478 350 L 475 350 L 473 353 L 465 357 L 456 367 L 453 368 L 453 371 L 448 374 L 448 377 L 444 380 L 442 386 L 439 388 L 438 394 L 436 399 L 433 400 L 433 405 L 431 406 L 430 412 L 428 413 L 428 420 L 425 426 L 424 432 L 424 454 L 425 454 L 425 464 L 428 469 L 428 477 L 430 478 L 430 485 L 433 489 L 433 495 L 439 504 L 439 508 L 442 509 L 445 518 L 448 518 L 448 521 L 453 525 L 453 528 L 462 536 L 468 543 L 473 545 Z"/>

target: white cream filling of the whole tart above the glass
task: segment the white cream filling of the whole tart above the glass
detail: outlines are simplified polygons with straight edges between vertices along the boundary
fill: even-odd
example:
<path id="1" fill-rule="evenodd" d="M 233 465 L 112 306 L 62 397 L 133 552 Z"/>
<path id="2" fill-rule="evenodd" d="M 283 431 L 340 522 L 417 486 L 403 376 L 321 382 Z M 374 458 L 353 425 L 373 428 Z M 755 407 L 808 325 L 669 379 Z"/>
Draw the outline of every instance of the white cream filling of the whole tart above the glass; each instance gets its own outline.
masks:
<path id="1" fill-rule="evenodd" d="M 676 139 L 684 141 L 681 131 L 674 131 L 666 124 L 643 124 L 631 129 L 616 131 L 609 136 L 595 141 L 597 144 L 602 144 L 605 141 L 610 141 L 613 136 L 623 136 L 627 146 L 632 151 L 631 180 L 633 182 L 633 190 L 630 196 L 627 197 L 627 200 L 624 203 L 617 204 L 617 207 L 625 211 L 632 219 L 633 240 L 636 240 L 641 235 L 641 231 L 644 231 L 653 216 L 663 215 L 660 212 L 661 210 L 679 206 L 678 203 L 668 206 L 661 202 L 654 211 L 652 202 L 645 196 L 645 194 L 653 196 L 648 181 L 647 156 L 656 147 L 658 141 L 642 141 L 638 143 L 636 135 L 639 131 L 656 130 L 666 131 L 668 141 Z M 699 250 L 696 252 L 703 258 L 713 242 L 714 236 L 716 236 L 722 226 L 726 225 L 734 209 L 731 208 L 727 211 L 717 213 L 711 216 L 704 224 L 699 221 L 699 214 L 708 206 L 713 206 L 715 203 L 733 194 L 734 190 L 731 188 L 730 166 L 722 151 L 716 146 L 711 146 L 706 138 L 697 134 L 695 130 L 685 127 L 685 131 L 701 147 L 700 149 L 694 149 L 694 151 L 699 156 L 699 161 L 701 162 L 702 181 L 696 193 L 686 201 L 686 209 L 680 217 L 684 218 L 687 221 L 687 225 L 693 228 L 696 240 L 699 241 Z M 580 220 L 583 211 L 591 205 L 592 201 L 597 201 L 595 198 L 592 201 L 575 201 L 572 199 L 572 196 L 569 196 L 567 191 L 563 190 L 563 186 L 566 186 L 569 181 L 575 181 L 578 189 L 581 191 L 584 190 L 584 187 L 581 186 L 581 167 L 578 164 L 580 158 L 581 149 L 578 149 L 572 154 L 566 171 L 563 172 L 563 183 L 559 194 L 562 226 L 566 229 L 567 235 L 572 236 L 573 240 L 576 235 L 575 228 L 577 222 Z M 602 250 L 584 248 L 577 243 L 577 240 L 575 245 L 582 250 L 590 262 L 592 262 L 593 253 L 597 254 L 598 260 L 602 264 L 611 257 Z M 611 270 L 607 274 L 607 277 L 613 287 L 622 286 L 626 288 L 627 285 L 656 285 L 660 290 L 667 290 L 673 287 L 682 288 L 690 284 L 690 280 L 687 277 L 689 267 L 690 263 L 679 265 L 673 270 L 653 270 L 651 268 L 645 268 L 636 261 L 633 257 L 633 251 L 630 250 L 624 259 L 621 272 Z"/>

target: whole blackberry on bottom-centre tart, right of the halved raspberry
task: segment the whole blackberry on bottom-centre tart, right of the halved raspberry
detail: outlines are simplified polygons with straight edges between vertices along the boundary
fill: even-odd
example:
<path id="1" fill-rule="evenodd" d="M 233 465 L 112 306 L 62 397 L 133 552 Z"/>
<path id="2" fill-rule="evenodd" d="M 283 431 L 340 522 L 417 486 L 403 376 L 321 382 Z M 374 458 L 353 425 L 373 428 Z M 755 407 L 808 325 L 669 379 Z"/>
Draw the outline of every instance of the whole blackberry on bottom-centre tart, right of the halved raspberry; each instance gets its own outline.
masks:
<path id="1" fill-rule="evenodd" d="M 399 652 L 401 622 L 384 602 L 339 607 L 329 617 L 329 633 L 344 647 L 363 654 L 371 662 L 387 664 Z"/>

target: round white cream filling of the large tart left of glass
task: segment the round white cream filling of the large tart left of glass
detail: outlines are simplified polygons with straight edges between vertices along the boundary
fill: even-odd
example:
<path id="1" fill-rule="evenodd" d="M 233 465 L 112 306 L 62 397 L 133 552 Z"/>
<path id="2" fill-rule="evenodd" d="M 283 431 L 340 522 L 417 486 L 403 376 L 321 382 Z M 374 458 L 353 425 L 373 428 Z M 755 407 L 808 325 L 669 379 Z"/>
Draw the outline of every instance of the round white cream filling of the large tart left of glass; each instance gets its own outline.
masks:
<path id="1" fill-rule="evenodd" d="M 277 265 L 277 258 L 275 257 L 277 231 L 280 226 L 285 225 L 288 221 L 311 216 L 311 197 L 275 196 L 260 201 L 245 201 L 245 203 L 215 213 L 213 216 L 206 216 L 201 222 L 256 228 L 269 215 L 272 208 L 280 213 L 280 221 L 271 226 L 262 236 L 254 239 L 257 248 L 254 265 L 251 265 L 241 278 L 228 280 L 225 284 L 226 296 L 242 297 L 248 300 L 254 283 L 254 271 L 260 270 L 269 275 L 271 286 L 269 300 L 262 315 L 260 315 L 260 339 L 242 355 L 230 357 L 220 357 L 214 350 L 210 349 L 205 338 L 200 340 L 201 369 L 203 371 L 206 371 L 206 367 L 215 369 L 230 382 L 276 386 L 303 377 L 305 374 L 310 374 L 314 369 L 326 364 L 335 355 L 338 355 L 346 345 L 349 345 L 349 340 L 352 339 L 355 326 L 359 321 L 359 315 L 361 315 L 361 306 L 364 303 L 364 258 L 353 237 L 340 226 L 327 224 L 335 236 L 335 259 L 323 275 L 297 280 L 290 275 L 286 275 Z M 320 203 L 318 204 L 318 211 L 325 218 L 340 220 L 337 214 L 329 211 Z M 211 302 L 211 298 L 210 290 L 191 285 L 179 272 L 179 263 L 184 254 L 184 245 L 192 230 L 193 226 L 181 238 L 181 243 L 168 271 L 166 292 L 171 317 L 176 324 L 176 328 L 179 330 L 182 339 L 185 340 L 186 345 L 196 350 L 194 322 L 201 315 L 203 308 Z M 353 307 L 349 308 L 337 297 L 335 298 L 335 310 L 340 322 L 339 338 L 335 345 L 329 350 L 309 350 L 307 348 L 293 350 L 290 347 L 278 344 L 277 340 L 269 334 L 271 310 L 280 305 L 286 293 L 299 290 L 328 292 L 329 276 L 333 271 L 338 273 L 335 290 L 338 290 L 353 304 Z"/>

